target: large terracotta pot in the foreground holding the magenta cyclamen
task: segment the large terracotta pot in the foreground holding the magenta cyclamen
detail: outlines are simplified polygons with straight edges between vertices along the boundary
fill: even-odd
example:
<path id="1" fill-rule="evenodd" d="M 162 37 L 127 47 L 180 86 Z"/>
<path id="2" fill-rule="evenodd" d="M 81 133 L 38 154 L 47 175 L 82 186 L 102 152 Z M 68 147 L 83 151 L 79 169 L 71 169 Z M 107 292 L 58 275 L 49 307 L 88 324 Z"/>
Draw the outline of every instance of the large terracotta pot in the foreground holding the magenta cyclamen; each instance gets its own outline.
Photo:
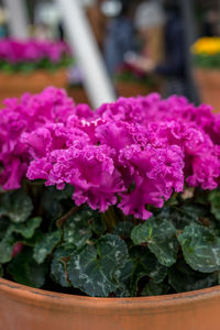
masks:
<path id="1" fill-rule="evenodd" d="M 217 330 L 220 286 L 160 297 L 91 298 L 0 279 L 2 330 Z"/>

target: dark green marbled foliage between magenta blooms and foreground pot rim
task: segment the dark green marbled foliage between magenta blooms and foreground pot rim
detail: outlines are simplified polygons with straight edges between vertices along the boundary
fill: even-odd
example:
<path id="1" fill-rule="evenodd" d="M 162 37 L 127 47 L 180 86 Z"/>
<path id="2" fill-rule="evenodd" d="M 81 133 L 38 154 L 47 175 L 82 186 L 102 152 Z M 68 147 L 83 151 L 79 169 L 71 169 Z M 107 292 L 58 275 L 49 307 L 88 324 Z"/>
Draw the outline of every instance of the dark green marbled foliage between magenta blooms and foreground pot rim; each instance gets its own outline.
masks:
<path id="1" fill-rule="evenodd" d="M 44 188 L 44 196 L 48 194 L 53 196 L 52 189 Z M 116 212 L 111 228 L 109 218 L 105 221 L 86 205 L 80 209 L 72 205 L 69 211 L 73 201 L 68 194 L 59 218 L 54 217 L 51 205 L 47 223 L 37 216 L 45 200 L 24 222 L 4 215 L 0 218 L 4 232 L 0 274 L 33 287 L 78 289 L 81 295 L 98 297 L 163 295 L 217 285 L 220 231 L 209 200 L 218 191 L 207 194 L 205 217 L 202 205 L 196 201 L 198 194 L 187 200 L 176 198 L 175 206 L 174 200 L 168 201 L 144 222 L 135 218 L 124 221 Z M 11 208 L 16 199 L 13 201 Z M 19 252 L 14 250 L 18 244 L 22 244 Z"/>

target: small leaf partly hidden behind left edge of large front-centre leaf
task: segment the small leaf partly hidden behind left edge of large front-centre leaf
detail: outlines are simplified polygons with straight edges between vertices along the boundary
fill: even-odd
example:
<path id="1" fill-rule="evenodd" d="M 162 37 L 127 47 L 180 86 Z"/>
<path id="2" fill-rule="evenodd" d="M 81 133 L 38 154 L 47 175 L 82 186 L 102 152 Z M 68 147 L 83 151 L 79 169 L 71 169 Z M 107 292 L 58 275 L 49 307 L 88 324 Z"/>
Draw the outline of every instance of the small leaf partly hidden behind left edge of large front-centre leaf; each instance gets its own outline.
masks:
<path id="1" fill-rule="evenodd" d="M 72 286 L 70 282 L 68 280 L 67 264 L 72 254 L 75 252 L 76 249 L 65 249 L 64 246 L 59 246 L 54 253 L 51 264 L 52 278 L 63 287 Z"/>

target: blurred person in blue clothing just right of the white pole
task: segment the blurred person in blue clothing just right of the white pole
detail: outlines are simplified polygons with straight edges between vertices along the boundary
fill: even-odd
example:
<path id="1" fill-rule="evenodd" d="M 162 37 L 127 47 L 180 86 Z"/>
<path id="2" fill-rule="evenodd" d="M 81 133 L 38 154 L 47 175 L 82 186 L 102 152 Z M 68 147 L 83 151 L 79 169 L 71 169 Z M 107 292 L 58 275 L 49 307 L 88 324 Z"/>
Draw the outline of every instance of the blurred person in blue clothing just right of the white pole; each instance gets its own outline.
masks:
<path id="1" fill-rule="evenodd" d="M 106 41 L 105 59 L 111 76 L 124 62 L 124 54 L 138 51 L 138 40 L 133 23 L 135 3 L 132 0 L 121 1 L 120 13 L 110 20 Z"/>

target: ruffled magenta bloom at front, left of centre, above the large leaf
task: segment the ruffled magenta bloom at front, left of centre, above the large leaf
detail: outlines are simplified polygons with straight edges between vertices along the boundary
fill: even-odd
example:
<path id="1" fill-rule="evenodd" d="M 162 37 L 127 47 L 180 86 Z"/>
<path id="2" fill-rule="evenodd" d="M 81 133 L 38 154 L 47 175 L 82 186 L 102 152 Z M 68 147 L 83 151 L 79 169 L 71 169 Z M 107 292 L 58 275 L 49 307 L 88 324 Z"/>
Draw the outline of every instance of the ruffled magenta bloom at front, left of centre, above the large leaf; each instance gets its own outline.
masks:
<path id="1" fill-rule="evenodd" d="M 88 202 L 100 211 L 116 205 L 117 194 L 124 189 L 107 146 L 76 145 L 54 151 L 48 157 L 32 162 L 28 177 L 45 179 L 46 185 L 56 185 L 58 189 L 70 184 L 75 187 L 73 198 L 76 205 Z"/>

